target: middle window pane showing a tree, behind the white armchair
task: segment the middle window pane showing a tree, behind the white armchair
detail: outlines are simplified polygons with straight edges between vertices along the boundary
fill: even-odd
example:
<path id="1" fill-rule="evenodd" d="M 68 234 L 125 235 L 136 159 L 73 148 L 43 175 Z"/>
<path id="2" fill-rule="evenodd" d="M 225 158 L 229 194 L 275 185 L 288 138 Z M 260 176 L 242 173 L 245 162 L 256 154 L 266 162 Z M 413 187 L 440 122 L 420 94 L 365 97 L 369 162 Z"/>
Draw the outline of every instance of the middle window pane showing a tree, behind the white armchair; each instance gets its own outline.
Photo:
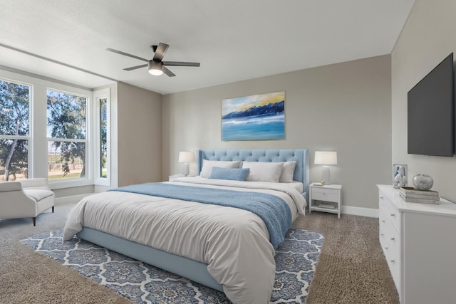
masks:
<path id="1" fill-rule="evenodd" d="M 81 179 L 87 172 L 86 96 L 48 89 L 48 179 Z"/>

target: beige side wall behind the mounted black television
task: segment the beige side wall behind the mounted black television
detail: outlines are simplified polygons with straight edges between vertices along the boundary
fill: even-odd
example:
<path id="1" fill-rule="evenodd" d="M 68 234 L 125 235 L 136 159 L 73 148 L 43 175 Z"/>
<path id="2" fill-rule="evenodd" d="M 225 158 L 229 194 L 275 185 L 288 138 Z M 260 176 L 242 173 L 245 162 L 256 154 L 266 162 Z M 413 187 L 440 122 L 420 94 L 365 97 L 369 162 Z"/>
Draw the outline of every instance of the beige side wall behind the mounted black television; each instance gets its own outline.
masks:
<path id="1" fill-rule="evenodd" d="M 417 0 L 391 55 L 393 162 L 434 179 L 432 189 L 456 201 L 455 157 L 407 154 L 407 93 L 449 53 L 456 52 L 456 1 Z M 404 118 L 405 117 L 405 118 Z"/>

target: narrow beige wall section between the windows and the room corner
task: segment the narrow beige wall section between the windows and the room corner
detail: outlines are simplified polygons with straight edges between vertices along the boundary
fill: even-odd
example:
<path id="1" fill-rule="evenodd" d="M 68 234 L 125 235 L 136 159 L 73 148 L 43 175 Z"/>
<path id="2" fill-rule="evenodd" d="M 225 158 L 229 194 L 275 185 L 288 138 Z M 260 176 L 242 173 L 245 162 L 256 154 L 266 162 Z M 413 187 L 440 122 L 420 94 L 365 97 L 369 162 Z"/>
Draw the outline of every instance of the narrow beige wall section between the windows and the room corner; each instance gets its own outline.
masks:
<path id="1" fill-rule="evenodd" d="M 160 182 L 162 95 L 118 83 L 118 186 Z"/>

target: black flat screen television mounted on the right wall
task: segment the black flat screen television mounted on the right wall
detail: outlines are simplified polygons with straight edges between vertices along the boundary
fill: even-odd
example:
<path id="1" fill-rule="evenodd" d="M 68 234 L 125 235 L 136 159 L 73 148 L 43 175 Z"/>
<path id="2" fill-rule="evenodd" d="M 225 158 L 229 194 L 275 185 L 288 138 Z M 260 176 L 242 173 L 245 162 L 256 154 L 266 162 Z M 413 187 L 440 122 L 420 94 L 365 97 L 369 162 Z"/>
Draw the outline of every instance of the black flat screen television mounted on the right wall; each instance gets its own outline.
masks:
<path id="1" fill-rule="evenodd" d="M 408 92 L 408 154 L 455 152 L 453 53 Z"/>

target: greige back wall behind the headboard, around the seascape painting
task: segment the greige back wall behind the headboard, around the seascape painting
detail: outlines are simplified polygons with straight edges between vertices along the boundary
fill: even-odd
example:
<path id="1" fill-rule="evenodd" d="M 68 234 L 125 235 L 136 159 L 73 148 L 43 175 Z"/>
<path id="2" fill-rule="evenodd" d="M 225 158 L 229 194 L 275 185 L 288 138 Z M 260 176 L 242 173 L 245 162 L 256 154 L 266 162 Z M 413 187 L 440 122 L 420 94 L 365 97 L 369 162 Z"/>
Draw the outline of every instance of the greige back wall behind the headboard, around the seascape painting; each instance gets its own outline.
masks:
<path id="1" fill-rule="evenodd" d="M 164 95 L 162 179 L 182 173 L 180 151 L 308 148 L 315 182 L 321 166 L 314 151 L 336 151 L 331 180 L 343 184 L 343 206 L 378 209 L 375 184 L 392 182 L 390 75 L 390 56 L 378 56 Z M 286 140 L 221 141 L 222 99 L 283 90 Z"/>

